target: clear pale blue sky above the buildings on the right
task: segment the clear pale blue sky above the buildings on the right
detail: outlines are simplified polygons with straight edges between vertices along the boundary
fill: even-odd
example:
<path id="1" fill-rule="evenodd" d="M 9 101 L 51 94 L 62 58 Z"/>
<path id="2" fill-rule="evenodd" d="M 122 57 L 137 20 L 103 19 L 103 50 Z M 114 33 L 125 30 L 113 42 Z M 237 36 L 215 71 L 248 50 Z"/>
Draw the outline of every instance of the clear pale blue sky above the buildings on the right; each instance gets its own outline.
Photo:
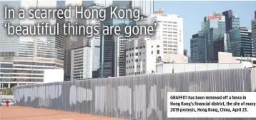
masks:
<path id="1" fill-rule="evenodd" d="M 164 14 L 177 14 L 183 18 L 184 49 L 190 54 L 190 39 L 201 30 L 204 17 L 217 11 L 232 10 L 240 17 L 240 26 L 251 27 L 256 11 L 256 1 L 154 1 L 154 10 L 164 9 Z"/>

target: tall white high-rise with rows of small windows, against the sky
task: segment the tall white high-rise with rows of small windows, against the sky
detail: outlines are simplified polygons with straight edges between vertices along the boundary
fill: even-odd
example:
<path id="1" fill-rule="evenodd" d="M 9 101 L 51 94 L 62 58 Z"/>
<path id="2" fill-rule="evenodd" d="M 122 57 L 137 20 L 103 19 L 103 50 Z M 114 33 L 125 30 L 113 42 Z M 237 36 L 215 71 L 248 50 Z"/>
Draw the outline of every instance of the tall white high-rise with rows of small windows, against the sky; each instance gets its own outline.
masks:
<path id="1" fill-rule="evenodd" d="M 183 18 L 176 14 L 151 14 L 138 25 L 157 23 L 152 39 L 163 43 L 164 54 L 183 54 Z"/>

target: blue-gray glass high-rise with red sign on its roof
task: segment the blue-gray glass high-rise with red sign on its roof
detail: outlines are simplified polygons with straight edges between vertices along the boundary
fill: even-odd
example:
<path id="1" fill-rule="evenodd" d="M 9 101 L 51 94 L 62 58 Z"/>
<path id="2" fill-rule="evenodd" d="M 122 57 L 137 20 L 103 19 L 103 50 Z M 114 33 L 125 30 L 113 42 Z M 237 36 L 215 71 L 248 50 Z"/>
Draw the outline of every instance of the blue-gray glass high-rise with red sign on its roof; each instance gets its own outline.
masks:
<path id="1" fill-rule="evenodd" d="M 225 16 L 216 12 L 206 16 L 202 22 L 202 31 L 193 36 L 190 41 L 192 62 L 215 61 L 214 40 L 225 33 Z"/>

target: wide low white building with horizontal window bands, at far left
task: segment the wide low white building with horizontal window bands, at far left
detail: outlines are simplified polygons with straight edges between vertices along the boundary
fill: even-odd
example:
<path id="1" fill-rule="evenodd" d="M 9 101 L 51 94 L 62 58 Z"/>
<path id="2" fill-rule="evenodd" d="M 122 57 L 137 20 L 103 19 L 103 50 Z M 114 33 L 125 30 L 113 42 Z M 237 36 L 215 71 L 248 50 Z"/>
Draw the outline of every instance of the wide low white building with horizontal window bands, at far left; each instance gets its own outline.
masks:
<path id="1" fill-rule="evenodd" d="M 39 84 L 44 81 L 44 69 L 63 69 L 63 61 L 36 57 L 1 57 L 0 81 L 4 87 Z"/>

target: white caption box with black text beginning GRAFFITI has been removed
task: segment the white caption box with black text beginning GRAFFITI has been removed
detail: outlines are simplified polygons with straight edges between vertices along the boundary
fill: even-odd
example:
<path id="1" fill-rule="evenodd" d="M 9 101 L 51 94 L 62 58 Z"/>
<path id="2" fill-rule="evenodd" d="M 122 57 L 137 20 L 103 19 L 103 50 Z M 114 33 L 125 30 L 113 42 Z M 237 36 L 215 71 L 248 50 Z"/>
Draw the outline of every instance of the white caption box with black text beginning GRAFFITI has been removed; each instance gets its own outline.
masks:
<path id="1" fill-rule="evenodd" d="M 192 96 L 194 99 L 189 99 Z M 200 97 L 195 99 L 196 96 Z M 232 103 L 232 106 L 227 106 L 227 102 Z M 167 93 L 168 118 L 252 118 L 256 117 L 255 112 L 256 92 Z"/>

